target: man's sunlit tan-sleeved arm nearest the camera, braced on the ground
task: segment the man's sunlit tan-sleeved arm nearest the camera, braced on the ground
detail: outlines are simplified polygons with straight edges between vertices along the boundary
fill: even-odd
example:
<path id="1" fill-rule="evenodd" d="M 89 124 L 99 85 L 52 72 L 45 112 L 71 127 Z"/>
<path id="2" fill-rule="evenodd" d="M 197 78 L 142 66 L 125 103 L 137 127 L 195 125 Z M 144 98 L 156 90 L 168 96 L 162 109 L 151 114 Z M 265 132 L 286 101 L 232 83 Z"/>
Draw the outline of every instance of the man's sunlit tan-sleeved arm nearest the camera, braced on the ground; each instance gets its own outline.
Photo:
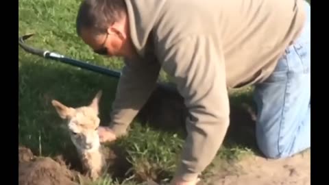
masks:
<path id="1" fill-rule="evenodd" d="M 215 158 L 229 125 L 225 63 L 212 40 L 187 36 L 160 55 L 162 69 L 173 75 L 189 111 L 188 136 L 175 175 L 186 181 L 194 181 Z"/>

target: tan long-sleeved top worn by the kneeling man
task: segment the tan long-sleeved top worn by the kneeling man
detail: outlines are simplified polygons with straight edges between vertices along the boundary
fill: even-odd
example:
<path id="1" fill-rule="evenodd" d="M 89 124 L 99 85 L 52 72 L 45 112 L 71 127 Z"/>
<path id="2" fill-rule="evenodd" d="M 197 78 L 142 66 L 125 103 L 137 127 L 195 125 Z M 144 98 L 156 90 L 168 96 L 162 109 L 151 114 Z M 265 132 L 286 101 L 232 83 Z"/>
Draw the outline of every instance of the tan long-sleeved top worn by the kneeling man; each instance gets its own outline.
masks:
<path id="1" fill-rule="evenodd" d="M 189 114 L 178 173 L 197 177 L 215 157 L 230 122 L 228 88 L 262 82 L 300 34 L 304 0 L 125 0 L 139 57 L 125 60 L 112 124 L 117 135 L 154 90 L 162 68 Z"/>

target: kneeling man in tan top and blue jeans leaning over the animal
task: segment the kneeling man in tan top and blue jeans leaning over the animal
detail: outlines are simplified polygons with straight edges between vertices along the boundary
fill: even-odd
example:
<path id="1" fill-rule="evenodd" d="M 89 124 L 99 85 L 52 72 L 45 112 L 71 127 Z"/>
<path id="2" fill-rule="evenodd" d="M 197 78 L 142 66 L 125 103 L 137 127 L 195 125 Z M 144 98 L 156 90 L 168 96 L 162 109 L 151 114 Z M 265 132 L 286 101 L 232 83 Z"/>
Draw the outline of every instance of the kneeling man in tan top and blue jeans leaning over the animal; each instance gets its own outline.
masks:
<path id="1" fill-rule="evenodd" d="M 127 127 L 162 68 L 184 97 L 188 136 L 172 184 L 195 184 L 229 125 L 228 88 L 255 84 L 256 137 L 268 158 L 310 147 L 310 6 L 304 0 L 84 0 L 77 34 L 96 53 L 123 56 L 112 122 Z"/>

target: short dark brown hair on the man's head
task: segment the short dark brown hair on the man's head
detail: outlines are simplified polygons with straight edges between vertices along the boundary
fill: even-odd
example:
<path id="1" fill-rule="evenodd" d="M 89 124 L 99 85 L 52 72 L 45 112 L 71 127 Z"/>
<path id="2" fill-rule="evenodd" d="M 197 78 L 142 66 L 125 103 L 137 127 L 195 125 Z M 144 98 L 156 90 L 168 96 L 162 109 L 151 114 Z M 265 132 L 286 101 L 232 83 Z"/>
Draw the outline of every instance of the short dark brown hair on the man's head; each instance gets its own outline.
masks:
<path id="1" fill-rule="evenodd" d="M 77 12 L 77 34 L 81 36 L 82 29 L 90 29 L 95 34 L 105 33 L 123 12 L 126 12 L 124 0 L 84 0 Z"/>

